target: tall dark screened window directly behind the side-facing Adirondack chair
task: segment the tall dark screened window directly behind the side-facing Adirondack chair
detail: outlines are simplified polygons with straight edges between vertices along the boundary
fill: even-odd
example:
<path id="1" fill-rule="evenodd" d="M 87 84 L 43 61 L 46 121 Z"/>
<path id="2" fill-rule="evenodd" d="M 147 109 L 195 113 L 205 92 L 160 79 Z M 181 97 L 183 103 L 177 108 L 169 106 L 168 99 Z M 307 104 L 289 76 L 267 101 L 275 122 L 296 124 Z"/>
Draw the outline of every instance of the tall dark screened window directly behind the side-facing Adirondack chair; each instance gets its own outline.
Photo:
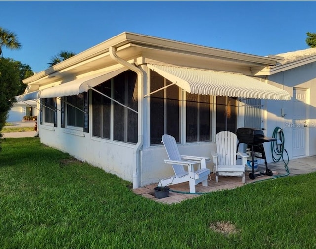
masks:
<path id="1" fill-rule="evenodd" d="M 150 75 L 150 92 L 170 85 L 172 82 L 155 71 Z M 180 142 L 179 87 L 169 86 L 150 96 L 150 143 L 161 144 L 161 137 L 167 133 Z"/>

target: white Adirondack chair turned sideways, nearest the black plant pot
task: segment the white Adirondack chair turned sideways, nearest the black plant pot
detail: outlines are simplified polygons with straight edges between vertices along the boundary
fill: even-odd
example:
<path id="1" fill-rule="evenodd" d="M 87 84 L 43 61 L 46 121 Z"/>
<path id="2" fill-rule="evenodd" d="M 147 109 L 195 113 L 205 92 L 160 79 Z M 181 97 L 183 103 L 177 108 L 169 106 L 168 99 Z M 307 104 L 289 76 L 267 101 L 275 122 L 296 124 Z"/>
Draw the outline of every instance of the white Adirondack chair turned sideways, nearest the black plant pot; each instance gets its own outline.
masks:
<path id="1" fill-rule="evenodd" d="M 190 193 L 196 192 L 195 186 L 200 182 L 202 182 L 203 186 L 207 186 L 208 175 L 211 172 L 206 168 L 206 161 L 210 160 L 209 157 L 181 156 L 175 138 L 168 134 L 162 136 L 161 142 L 163 142 L 169 157 L 164 162 L 172 164 L 175 175 L 160 180 L 158 186 L 167 186 L 188 181 Z M 200 164 L 200 168 L 194 171 L 194 165 L 197 164 Z M 184 166 L 187 166 L 188 170 L 185 170 Z"/>

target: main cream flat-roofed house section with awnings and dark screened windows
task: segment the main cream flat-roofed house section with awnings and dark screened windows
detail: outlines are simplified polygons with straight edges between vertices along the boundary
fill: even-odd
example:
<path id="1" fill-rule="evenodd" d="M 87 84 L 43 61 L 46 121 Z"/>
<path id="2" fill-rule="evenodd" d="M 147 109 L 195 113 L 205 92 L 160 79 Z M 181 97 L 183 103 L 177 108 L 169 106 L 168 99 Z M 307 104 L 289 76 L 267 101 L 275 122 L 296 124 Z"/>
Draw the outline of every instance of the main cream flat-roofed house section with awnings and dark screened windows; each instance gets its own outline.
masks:
<path id="1" fill-rule="evenodd" d="M 261 100 L 290 95 L 253 76 L 278 59 L 122 33 L 25 79 L 19 100 L 40 99 L 42 143 L 137 188 L 173 174 L 165 133 L 182 154 L 211 157 L 217 132 L 263 128 Z"/>

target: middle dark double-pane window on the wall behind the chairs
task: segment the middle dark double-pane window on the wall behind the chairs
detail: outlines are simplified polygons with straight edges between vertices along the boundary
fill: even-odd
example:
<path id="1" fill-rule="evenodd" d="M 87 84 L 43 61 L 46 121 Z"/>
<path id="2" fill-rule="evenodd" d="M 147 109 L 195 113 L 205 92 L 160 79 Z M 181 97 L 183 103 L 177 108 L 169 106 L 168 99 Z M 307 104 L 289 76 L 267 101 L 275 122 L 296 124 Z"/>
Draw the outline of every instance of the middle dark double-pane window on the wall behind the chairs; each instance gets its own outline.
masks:
<path id="1" fill-rule="evenodd" d="M 187 93 L 186 98 L 186 141 L 210 141 L 211 96 Z"/>

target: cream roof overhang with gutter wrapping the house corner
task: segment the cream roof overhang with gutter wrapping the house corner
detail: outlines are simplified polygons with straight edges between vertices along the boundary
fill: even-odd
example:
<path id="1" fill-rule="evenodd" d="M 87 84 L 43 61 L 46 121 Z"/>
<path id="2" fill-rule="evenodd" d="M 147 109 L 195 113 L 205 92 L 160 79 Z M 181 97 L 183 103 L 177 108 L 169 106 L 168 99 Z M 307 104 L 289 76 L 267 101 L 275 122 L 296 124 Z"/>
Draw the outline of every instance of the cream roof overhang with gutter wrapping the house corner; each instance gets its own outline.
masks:
<path id="1" fill-rule="evenodd" d="M 92 48 L 89 48 L 45 71 L 34 74 L 24 79 L 25 84 L 47 85 L 62 80 L 63 78 L 76 76 L 88 71 L 95 71 L 114 64 L 109 56 L 109 47 L 115 47 L 118 56 L 127 60 L 136 54 L 141 55 L 145 50 L 159 53 L 170 52 L 187 54 L 230 61 L 248 67 L 265 67 L 276 64 L 275 58 L 251 55 L 230 50 L 211 48 L 153 36 L 145 36 L 135 33 L 124 32 L 114 36 Z"/>

